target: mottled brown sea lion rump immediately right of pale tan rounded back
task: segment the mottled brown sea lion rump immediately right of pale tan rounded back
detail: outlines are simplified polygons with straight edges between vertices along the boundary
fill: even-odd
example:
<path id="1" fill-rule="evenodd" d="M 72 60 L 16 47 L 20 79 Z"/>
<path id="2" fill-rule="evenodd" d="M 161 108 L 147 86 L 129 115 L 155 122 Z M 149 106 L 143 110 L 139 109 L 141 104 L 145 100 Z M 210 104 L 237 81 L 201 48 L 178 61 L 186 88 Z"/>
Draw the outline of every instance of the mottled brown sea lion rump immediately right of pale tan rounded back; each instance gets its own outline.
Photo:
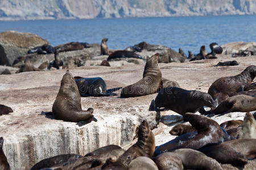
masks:
<path id="1" fill-rule="evenodd" d="M 159 170 L 183 170 L 182 160 L 179 155 L 172 152 L 165 152 L 152 158 Z"/>

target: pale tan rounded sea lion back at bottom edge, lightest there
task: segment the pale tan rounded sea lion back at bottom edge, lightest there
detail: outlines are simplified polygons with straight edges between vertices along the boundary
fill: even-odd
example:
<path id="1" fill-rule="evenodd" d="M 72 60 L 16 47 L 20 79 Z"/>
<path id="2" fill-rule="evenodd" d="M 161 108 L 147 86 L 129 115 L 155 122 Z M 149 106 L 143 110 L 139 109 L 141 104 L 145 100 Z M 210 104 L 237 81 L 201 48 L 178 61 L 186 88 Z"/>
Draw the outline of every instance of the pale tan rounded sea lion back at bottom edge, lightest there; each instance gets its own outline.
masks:
<path id="1" fill-rule="evenodd" d="M 134 160 L 131 161 L 131 163 L 128 166 L 129 170 L 158 170 L 158 167 L 152 161 L 152 159 L 147 158 L 145 156 L 140 156 Z"/>

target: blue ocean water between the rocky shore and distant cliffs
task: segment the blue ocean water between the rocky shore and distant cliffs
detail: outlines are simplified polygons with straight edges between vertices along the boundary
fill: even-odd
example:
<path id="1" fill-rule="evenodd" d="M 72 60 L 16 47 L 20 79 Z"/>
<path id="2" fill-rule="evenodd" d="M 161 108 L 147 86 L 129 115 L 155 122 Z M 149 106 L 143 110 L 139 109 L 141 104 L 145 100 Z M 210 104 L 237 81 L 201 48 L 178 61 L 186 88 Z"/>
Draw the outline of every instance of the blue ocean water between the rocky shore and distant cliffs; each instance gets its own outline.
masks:
<path id="1" fill-rule="evenodd" d="M 256 15 L 188 16 L 165 18 L 1 21 L 0 32 L 32 32 L 53 46 L 71 41 L 101 43 L 125 49 L 146 41 L 185 53 L 199 53 L 200 46 L 233 41 L 256 41 Z"/>

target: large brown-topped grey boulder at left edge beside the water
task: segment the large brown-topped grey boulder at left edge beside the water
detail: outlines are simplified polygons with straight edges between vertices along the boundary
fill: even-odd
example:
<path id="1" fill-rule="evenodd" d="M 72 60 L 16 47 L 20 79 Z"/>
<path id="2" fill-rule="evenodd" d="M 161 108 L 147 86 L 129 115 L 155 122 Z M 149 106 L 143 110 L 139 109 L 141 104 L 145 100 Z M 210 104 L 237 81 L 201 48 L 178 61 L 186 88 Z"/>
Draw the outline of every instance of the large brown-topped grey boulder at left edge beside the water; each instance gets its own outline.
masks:
<path id="1" fill-rule="evenodd" d="M 14 60 L 24 56 L 30 48 L 49 44 L 34 33 L 7 31 L 0 33 L 0 65 L 13 65 Z"/>

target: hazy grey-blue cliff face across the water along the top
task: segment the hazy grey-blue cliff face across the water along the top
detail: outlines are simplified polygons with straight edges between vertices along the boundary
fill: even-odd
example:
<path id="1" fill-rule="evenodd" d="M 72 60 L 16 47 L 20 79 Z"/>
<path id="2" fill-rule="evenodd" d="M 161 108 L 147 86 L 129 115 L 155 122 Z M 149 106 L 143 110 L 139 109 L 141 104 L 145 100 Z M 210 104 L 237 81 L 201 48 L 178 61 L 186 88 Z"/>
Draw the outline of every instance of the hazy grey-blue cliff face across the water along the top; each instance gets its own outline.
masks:
<path id="1" fill-rule="evenodd" d="M 253 15 L 256 0 L 1 0 L 0 20 Z"/>

